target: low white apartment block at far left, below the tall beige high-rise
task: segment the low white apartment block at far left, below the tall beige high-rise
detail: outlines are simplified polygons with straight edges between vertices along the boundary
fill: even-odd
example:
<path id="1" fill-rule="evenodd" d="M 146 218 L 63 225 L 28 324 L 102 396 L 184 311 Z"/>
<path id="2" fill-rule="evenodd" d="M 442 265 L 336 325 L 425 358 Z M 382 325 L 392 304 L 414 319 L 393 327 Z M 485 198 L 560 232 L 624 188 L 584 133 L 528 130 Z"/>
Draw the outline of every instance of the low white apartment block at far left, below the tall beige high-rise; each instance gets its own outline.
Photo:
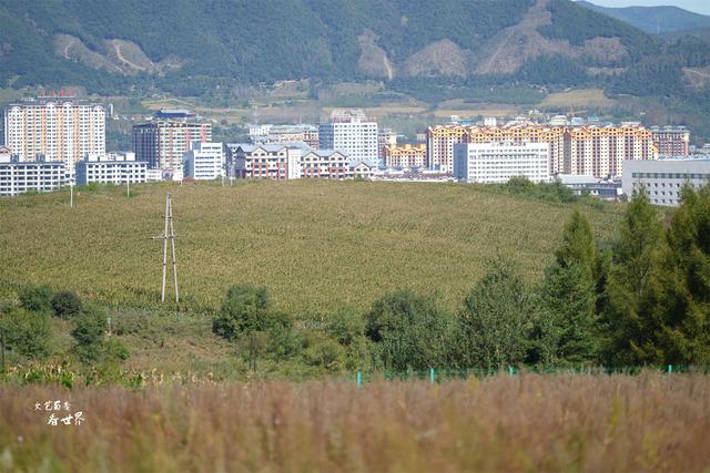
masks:
<path id="1" fill-rule="evenodd" d="M 20 161 L 8 147 L 0 146 L 0 196 L 54 191 L 64 183 L 64 163 L 43 157 Z"/>

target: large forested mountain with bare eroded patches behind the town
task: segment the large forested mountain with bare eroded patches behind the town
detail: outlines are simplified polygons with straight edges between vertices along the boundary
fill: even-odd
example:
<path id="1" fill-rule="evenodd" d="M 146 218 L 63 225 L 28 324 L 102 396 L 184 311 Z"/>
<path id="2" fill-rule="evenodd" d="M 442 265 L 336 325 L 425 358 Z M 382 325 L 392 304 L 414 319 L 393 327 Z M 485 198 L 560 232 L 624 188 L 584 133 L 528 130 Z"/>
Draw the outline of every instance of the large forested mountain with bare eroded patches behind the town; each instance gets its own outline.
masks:
<path id="1" fill-rule="evenodd" d="M 701 44 L 671 51 L 570 0 L 0 0 L 12 88 L 200 95 L 308 78 L 432 100 L 501 83 L 670 95 L 682 68 L 708 65 Z"/>

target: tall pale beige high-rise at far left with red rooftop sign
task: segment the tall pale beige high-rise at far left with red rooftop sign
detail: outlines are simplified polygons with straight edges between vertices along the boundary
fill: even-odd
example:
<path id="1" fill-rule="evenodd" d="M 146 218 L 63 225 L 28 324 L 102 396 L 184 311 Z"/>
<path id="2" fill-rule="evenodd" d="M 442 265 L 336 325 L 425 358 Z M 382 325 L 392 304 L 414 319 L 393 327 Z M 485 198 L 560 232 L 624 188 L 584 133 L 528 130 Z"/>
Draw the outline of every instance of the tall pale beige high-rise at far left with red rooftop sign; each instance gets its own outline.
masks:
<path id="1" fill-rule="evenodd" d="M 73 173 L 85 154 L 105 154 L 105 111 L 95 103 L 38 100 L 4 109 L 4 144 L 20 161 L 43 156 Z"/>

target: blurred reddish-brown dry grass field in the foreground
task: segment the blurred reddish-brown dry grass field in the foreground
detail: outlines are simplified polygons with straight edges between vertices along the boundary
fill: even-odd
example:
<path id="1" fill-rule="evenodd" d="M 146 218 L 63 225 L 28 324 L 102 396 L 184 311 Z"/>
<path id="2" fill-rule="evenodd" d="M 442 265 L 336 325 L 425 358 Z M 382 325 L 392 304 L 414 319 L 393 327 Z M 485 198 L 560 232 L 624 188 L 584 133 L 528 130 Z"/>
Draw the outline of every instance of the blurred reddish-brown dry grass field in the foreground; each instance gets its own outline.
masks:
<path id="1" fill-rule="evenodd" d="M 700 374 L 0 387 L 0 471 L 707 472 L 708 439 Z"/>

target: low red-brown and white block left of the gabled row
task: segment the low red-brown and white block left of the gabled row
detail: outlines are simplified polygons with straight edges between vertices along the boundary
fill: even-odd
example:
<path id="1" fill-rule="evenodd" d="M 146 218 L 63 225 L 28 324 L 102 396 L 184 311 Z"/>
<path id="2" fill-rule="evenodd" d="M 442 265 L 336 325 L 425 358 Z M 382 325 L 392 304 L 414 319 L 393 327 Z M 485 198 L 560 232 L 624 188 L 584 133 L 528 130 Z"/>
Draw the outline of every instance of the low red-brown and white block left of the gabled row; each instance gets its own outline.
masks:
<path id="1" fill-rule="evenodd" d="M 300 146 L 288 144 L 227 144 L 227 172 L 240 178 L 275 181 L 301 177 Z"/>

